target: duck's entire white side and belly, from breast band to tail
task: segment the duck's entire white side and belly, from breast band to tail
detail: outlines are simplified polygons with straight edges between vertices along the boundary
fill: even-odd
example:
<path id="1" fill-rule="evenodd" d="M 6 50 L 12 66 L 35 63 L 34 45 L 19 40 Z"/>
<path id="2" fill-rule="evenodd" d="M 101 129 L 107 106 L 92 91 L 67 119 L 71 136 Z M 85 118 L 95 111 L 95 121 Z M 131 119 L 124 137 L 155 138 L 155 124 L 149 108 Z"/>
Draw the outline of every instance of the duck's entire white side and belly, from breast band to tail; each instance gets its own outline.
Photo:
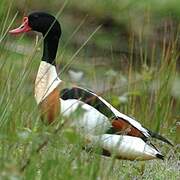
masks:
<path id="1" fill-rule="evenodd" d="M 88 148 L 100 147 L 106 156 L 119 159 L 150 160 L 159 153 L 141 138 L 106 134 L 111 127 L 108 119 L 93 107 L 78 100 L 61 100 L 61 113 L 72 119 L 72 125 L 83 135 Z M 73 116 L 72 116 L 73 115 Z"/>

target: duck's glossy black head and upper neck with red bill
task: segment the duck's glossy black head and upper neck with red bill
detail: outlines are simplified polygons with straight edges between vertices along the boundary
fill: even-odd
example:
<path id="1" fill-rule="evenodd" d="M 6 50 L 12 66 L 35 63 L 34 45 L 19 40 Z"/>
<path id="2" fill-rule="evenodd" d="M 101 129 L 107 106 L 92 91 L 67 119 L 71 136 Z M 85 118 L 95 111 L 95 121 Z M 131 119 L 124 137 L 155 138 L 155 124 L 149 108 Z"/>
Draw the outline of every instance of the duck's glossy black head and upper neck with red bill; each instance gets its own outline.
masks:
<path id="1" fill-rule="evenodd" d="M 23 23 L 16 29 L 9 31 L 11 34 L 21 34 L 28 31 L 37 31 L 44 36 L 44 51 L 42 60 L 48 63 L 55 63 L 55 57 L 61 26 L 58 20 L 45 12 L 33 12 L 23 18 Z"/>

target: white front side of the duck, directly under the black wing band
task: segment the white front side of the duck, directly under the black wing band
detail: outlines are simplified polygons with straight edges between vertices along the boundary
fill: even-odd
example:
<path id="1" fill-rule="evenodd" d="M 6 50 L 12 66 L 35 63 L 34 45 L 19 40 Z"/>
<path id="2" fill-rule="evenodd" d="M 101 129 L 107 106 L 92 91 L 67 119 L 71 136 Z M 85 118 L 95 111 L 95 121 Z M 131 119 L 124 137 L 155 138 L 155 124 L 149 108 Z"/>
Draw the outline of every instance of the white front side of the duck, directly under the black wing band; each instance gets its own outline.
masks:
<path id="1" fill-rule="evenodd" d="M 107 117 L 79 100 L 60 100 L 61 114 L 72 119 L 72 125 L 85 134 L 102 134 L 111 127 Z"/>

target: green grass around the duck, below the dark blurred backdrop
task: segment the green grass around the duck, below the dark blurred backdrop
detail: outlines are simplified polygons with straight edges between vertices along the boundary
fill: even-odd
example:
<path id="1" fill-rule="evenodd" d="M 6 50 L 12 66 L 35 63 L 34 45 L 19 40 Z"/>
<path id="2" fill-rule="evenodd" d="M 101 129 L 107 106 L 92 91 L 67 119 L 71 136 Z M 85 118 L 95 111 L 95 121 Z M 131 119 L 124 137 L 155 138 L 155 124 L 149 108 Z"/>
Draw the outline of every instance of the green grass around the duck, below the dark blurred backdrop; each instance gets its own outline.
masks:
<path id="1" fill-rule="evenodd" d="M 8 27 L 11 19 L 11 16 L 7 15 L 7 21 L 4 21 L 3 26 Z M 86 47 L 76 57 L 75 52 L 64 50 L 63 57 L 57 59 L 60 66 L 67 67 L 71 63 L 69 60 L 74 58 L 73 67 L 81 68 L 85 72 L 83 85 L 92 88 L 96 87 L 90 84 L 102 85 L 103 88 L 99 89 L 99 93 L 119 110 L 136 117 L 146 127 L 160 131 L 175 142 L 174 148 L 155 142 L 166 155 L 164 161 L 131 162 L 83 151 L 82 137 L 68 123 L 62 126 L 63 122 L 71 119 L 58 117 L 51 126 L 41 122 L 33 97 L 33 84 L 40 52 L 34 51 L 24 56 L 7 50 L 6 42 L 16 41 L 15 47 L 20 43 L 30 47 L 34 40 L 26 39 L 24 36 L 12 39 L 4 33 L 5 31 L 1 34 L 4 38 L 0 45 L 1 179 L 179 178 L 180 151 L 176 121 L 179 121 L 180 99 L 172 95 L 173 81 L 179 77 L 177 38 L 169 42 L 164 37 L 162 49 L 158 52 L 159 56 L 157 57 L 154 52 L 157 51 L 154 46 L 154 51 L 151 49 L 150 61 L 147 61 L 146 56 L 150 49 L 144 48 L 145 46 L 139 48 L 141 54 L 139 68 L 137 70 L 133 68 L 134 57 L 130 56 L 127 68 L 123 70 L 125 84 L 120 84 L 119 77 L 122 76 L 122 72 L 118 71 L 117 67 L 111 68 L 109 62 L 99 67 L 95 64 L 96 60 L 93 64 L 92 59 L 86 55 Z M 130 51 L 136 49 L 136 43 L 141 43 L 143 38 L 144 36 L 139 36 L 137 42 L 132 33 L 129 36 Z M 69 81 L 66 73 L 67 70 L 63 72 L 62 78 Z M 124 104 L 117 101 L 123 94 L 127 98 Z M 28 159 L 30 162 L 26 165 Z"/>

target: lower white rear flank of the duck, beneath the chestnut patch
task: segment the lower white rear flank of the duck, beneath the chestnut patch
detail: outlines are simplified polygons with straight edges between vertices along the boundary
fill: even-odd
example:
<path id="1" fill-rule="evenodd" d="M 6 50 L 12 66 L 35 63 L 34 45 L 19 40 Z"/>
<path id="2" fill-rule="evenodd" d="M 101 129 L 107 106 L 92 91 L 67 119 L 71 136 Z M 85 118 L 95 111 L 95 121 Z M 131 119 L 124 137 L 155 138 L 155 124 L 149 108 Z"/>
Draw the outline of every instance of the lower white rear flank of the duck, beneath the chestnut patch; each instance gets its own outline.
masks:
<path id="1" fill-rule="evenodd" d="M 99 146 L 122 159 L 150 160 L 160 154 L 142 139 L 127 135 L 87 135 L 86 140 L 91 147 Z"/>

